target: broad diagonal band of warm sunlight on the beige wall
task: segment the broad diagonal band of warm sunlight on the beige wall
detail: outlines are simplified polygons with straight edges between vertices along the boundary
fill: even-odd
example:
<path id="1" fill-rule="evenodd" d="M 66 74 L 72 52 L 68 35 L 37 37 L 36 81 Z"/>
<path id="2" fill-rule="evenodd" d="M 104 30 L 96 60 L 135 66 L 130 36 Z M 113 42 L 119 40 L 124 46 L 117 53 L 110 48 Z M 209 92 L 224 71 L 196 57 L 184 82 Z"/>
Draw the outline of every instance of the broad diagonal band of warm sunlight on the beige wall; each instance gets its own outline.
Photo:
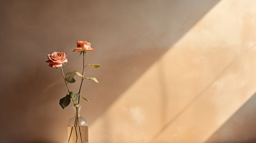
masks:
<path id="1" fill-rule="evenodd" d="M 90 134 L 123 143 L 206 141 L 256 89 L 256 32 L 247 35 L 256 28 L 247 14 L 256 11 L 240 4 L 211 9 L 121 93 Z"/>

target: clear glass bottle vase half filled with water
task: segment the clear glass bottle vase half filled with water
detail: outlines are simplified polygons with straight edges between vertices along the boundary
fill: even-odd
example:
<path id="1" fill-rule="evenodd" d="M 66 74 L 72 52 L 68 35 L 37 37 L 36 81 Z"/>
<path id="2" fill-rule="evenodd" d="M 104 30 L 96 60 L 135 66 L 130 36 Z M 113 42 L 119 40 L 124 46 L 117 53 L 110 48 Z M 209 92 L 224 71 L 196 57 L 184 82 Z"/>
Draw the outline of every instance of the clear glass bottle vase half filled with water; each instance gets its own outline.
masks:
<path id="1" fill-rule="evenodd" d="M 67 122 L 67 143 L 88 143 L 88 123 L 80 116 L 83 106 L 73 106 L 74 117 Z"/>

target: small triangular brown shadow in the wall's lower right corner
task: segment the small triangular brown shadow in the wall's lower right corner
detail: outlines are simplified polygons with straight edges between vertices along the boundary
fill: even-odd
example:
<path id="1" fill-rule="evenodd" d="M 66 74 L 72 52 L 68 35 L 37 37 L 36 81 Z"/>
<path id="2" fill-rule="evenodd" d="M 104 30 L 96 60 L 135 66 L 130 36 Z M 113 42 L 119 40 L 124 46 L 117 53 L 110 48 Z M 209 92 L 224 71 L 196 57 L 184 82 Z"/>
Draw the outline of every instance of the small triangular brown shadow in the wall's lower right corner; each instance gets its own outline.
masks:
<path id="1" fill-rule="evenodd" d="M 256 93 L 244 103 L 205 143 L 255 143 Z"/>

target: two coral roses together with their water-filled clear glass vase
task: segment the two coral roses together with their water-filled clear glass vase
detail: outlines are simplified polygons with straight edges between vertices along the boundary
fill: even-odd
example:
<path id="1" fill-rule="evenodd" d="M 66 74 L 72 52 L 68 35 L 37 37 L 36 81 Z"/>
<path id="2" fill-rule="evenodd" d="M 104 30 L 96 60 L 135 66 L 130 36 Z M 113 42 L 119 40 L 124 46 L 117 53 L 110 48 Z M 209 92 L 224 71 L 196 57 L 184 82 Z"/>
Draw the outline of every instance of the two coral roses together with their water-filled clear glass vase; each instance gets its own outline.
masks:
<path id="1" fill-rule="evenodd" d="M 48 54 L 48 61 L 46 61 L 47 63 L 49 63 L 49 66 L 52 68 L 61 68 L 61 73 L 63 75 L 63 79 L 65 81 L 65 84 L 67 86 L 67 95 L 63 98 L 60 99 L 60 105 L 61 107 L 64 109 L 65 107 L 67 107 L 72 99 L 72 102 L 74 103 L 74 111 L 75 111 L 75 116 L 73 118 L 71 118 L 70 120 L 72 120 L 72 125 L 68 125 L 68 143 L 88 143 L 88 126 L 83 126 L 80 125 L 80 123 L 84 123 L 83 121 L 81 121 L 81 117 L 79 115 L 79 108 L 81 108 L 81 106 L 79 106 L 80 103 L 80 97 L 82 97 L 83 99 L 85 99 L 86 101 L 88 101 L 90 103 L 90 101 L 84 97 L 81 94 L 81 87 L 83 84 L 83 80 L 84 79 L 90 79 L 93 80 L 97 83 L 98 80 L 95 77 L 84 77 L 84 69 L 86 66 L 92 66 L 93 68 L 98 68 L 101 65 L 99 64 L 87 64 L 85 65 L 85 55 L 88 55 L 87 52 L 88 51 L 95 51 L 94 48 L 91 48 L 91 43 L 87 42 L 87 41 L 77 41 L 77 48 L 74 49 L 73 52 L 80 52 L 80 55 L 83 53 L 83 71 L 82 74 L 77 72 L 77 71 L 73 71 L 73 72 L 68 72 L 66 73 L 66 75 L 64 75 L 63 72 L 63 68 L 62 65 L 65 62 L 68 62 L 67 60 L 67 54 L 64 52 L 53 52 L 52 54 Z M 80 56 L 79 55 L 79 56 Z M 75 93 L 72 92 L 70 90 L 70 88 L 68 87 L 68 83 L 74 83 L 76 80 L 74 79 L 74 76 L 78 76 L 81 78 L 81 84 L 79 87 L 79 92 Z M 75 101 L 77 101 L 75 103 Z M 79 136 L 80 135 L 80 136 Z M 78 139 L 80 138 L 80 140 L 78 141 Z"/>

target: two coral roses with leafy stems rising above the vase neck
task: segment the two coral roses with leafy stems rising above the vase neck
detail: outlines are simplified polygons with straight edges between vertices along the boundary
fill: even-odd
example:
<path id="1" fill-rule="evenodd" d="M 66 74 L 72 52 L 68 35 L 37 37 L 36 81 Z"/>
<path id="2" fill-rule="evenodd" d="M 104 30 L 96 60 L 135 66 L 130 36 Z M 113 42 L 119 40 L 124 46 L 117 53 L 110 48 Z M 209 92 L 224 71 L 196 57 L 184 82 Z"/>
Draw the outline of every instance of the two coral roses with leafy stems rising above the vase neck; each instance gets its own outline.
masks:
<path id="1" fill-rule="evenodd" d="M 57 68 L 57 69 L 61 68 L 61 72 L 62 72 L 64 81 L 65 81 L 65 84 L 67 86 L 67 93 L 68 93 L 65 97 L 60 99 L 60 105 L 63 109 L 70 104 L 71 99 L 74 103 L 74 106 L 78 107 L 79 103 L 80 103 L 80 97 L 82 97 L 83 99 L 85 99 L 86 101 L 88 101 L 90 103 L 90 101 L 81 94 L 81 87 L 82 87 L 84 79 L 90 79 L 90 80 L 93 80 L 93 81 L 99 83 L 98 80 L 95 77 L 84 77 L 84 73 L 85 73 L 84 69 L 85 69 L 86 66 L 92 66 L 93 68 L 98 68 L 98 67 L 101 66 L 99 64 L 87 64 L 87 65 L 85 65 L 85 55 L 88 55 L 87 54 L 88 51 L 93 51 L 94 52 L 95 49 L 91 48 L 91 43 L 87 42 L 87 41 L 77 41 L 76 44 L 77 44 L 77 48 L 75 48 L 73 52 L 80 52 L 80 55 L 83 53 L 83 71 L 82 71 L 82 74 L 77 72 L 77 71 L 73 71 L 73 72 L 68 72 L 68 73 L 66 73 L 66 75 L 64 75 L 62 65 L 65 62 L 68 62 L 68 60 L 66 58 L 67 57 L 66 53 L 53 52 L 52 54 L 48 54 L 48 59 L 49 60 L 46 61 L 47 63 L 49 63 L 49 66 L 52 67 L 52 68 Z M 80 84 L 78 93 L 72 92 L 68 87 L 68 83 L 74 83 L 76 81 L 74 79 L 74 76 L 78 76 L 78 77 L 81 78 L 81 84 Z M 75 103 L 76 100 L 78 100 L 77 103 Z"/>

